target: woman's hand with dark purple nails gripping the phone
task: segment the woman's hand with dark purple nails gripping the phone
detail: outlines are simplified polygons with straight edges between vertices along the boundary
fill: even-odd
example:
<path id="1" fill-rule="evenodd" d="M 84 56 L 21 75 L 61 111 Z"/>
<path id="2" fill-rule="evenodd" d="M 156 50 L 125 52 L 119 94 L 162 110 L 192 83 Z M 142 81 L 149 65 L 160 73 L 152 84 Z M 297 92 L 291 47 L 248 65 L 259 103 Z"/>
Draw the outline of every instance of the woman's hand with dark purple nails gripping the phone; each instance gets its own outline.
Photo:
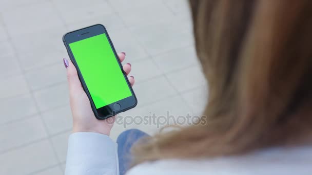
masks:
<path id="1" fill-rule="evenodd" d="M 121 62 L 125 60 L 124 52 L 118 54 Z M 81 82 L 77 75 L 76 68 L 70 60 L 64 58 L 64 64 L 67 69 L 67 80 L 69 84 L 70 108 L 73 118 L 73 133 L 76 132 L 93 132 L 109 136 L 110 130 L 115 122 L 115 116 L 105 120 L 95 118 L 91 108 L 89 98 L 82 88 Z M 131 71 L 131 64 L 123 66 L 128 75 Z M 134 77 L 130 76 L 129 82 L 134 84 Z"/>

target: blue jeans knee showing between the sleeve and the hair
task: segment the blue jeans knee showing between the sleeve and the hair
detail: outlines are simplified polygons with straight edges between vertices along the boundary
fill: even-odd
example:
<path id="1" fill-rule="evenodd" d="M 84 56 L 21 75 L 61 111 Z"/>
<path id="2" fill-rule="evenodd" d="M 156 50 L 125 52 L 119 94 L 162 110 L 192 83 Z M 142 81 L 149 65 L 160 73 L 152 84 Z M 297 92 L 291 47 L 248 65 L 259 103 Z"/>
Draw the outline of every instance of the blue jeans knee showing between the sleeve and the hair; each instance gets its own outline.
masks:
<path id="1" fill-rule="evenodd" d="M 126 173 L 131 163 L 130 149 L 132 145 L 148 135 L 139 129 L 129 129 L 122 132 L 117 138 L 120 175 Z"/>

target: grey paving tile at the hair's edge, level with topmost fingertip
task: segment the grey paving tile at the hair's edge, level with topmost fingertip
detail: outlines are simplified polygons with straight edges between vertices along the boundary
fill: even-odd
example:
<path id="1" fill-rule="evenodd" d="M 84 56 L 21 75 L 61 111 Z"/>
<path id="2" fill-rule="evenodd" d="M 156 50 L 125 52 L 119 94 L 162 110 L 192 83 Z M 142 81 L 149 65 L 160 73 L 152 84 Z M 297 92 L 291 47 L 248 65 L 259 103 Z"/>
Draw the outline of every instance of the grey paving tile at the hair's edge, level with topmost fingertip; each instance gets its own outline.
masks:
<path id="1" fill-rule="evenodd" d="M 153 59 L 164 73 L 188 68 L 192 65 L 198 64 L 196 52 L 193 46 L 173 50 L 153 57 Z"/>

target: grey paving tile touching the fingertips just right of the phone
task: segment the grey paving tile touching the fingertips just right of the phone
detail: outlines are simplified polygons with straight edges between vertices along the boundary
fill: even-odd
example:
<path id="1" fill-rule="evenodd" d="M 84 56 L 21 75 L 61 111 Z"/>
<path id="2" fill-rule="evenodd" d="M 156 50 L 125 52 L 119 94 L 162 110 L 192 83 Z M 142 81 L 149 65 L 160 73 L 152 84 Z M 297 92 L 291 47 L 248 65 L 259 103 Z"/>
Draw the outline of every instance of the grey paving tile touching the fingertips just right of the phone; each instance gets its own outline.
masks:
<path id="1" fill-rule="evenodd" d="M 131 68 L 130 74 L 134 76 L 136 82 L 148 80 L 162 74 L 161 70 L 151 59 L 133 62 L 131 63 Z"/>

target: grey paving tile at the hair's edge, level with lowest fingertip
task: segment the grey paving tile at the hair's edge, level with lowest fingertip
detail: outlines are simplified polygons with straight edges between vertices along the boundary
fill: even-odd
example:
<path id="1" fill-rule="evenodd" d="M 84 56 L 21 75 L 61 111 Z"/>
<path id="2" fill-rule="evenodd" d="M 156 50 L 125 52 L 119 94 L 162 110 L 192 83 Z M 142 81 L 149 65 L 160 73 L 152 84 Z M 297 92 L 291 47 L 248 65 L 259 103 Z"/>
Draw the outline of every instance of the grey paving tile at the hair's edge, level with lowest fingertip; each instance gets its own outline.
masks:
<path id="1" fill-rule="evenodd" d="M 175 89 L 177 89 L 180 93 L 197 88 L 198 86 L 206 83 L 206 79 L 197 65 L 170 73 L 167 77 Z"/>

